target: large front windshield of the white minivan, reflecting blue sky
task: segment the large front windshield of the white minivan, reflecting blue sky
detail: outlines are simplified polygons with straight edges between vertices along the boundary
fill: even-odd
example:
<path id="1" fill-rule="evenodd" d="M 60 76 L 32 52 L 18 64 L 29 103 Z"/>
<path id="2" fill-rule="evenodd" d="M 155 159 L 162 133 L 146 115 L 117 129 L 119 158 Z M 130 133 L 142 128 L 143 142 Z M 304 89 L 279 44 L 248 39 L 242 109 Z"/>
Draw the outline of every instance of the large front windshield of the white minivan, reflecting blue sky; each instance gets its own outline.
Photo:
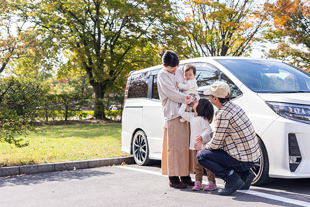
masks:
<path id="1" fill-rule="evenodd" d="M 217 59 L 257 93 L 310 92 L 310 74 L 292 65 L 268 60 Z"/>

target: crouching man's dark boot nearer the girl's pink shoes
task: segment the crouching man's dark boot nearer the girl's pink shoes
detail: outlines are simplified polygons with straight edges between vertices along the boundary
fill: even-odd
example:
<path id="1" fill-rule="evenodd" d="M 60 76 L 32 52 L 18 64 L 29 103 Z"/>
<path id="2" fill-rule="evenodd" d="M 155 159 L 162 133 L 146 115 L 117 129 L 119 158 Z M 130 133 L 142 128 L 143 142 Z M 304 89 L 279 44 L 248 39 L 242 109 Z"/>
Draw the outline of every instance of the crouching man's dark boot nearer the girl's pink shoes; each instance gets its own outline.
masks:
<path id="1" fill-rule="evenodd" d="M 225 187 L 218 191 L 219 195 L 231 195 L 244 185 L 244 181 L 233 171 L 233 174 L 222 177 Z"/>

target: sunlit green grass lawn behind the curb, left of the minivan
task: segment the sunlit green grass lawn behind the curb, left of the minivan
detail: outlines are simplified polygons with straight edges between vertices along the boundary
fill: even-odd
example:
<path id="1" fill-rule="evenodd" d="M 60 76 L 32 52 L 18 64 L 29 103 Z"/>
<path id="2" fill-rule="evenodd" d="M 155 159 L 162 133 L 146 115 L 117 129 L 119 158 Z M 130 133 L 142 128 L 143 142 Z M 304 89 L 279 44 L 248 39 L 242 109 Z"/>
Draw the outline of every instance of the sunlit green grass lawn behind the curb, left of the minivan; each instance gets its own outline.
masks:
<path id="1" fill-rule="evenodd" d="M 0 143 L 0 166 L 128 156 L 121 151 L 121 131 L 114 123 L 41 126 L 24 138 L 29 146 Z"/>

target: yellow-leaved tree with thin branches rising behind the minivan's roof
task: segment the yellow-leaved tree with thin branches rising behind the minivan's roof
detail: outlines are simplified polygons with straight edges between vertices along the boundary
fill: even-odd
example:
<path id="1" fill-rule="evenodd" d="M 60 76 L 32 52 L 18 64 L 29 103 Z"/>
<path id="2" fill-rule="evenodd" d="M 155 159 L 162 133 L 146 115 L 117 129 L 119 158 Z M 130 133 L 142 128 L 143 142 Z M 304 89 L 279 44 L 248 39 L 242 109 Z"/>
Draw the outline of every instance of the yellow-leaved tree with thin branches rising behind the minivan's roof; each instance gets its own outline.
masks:
<path id="1" fill-rule="evenodd" d="M 240 56 L 260 40 L 269 15 L 253 0 L 186 0 L 186 42 L 196 56 Z M 184 16 L 184 17 L 183 17 Z"/>

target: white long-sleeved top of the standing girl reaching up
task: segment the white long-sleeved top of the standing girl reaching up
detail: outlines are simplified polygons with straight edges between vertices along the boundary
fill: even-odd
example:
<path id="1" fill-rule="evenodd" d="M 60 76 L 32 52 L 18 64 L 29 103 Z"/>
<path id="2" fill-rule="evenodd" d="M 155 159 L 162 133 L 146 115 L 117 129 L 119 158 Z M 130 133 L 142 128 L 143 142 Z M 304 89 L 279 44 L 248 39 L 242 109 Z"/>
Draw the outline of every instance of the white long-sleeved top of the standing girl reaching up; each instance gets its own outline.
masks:
<path id="1" fill-rule="evenodd" d="M 189 149 L 194 150 L 196 136 L 202 136 L 202 142 L 208 143 L 211 140 L 210 134 L 212 132 L 212 128 L 209 121 L 205 120 L 202 116 L 194 117 L 194 112 L 186 112 L 185 109 L 186 104 L 182 104 L 179 109 L 179 114 L 190 123 Z"/>

